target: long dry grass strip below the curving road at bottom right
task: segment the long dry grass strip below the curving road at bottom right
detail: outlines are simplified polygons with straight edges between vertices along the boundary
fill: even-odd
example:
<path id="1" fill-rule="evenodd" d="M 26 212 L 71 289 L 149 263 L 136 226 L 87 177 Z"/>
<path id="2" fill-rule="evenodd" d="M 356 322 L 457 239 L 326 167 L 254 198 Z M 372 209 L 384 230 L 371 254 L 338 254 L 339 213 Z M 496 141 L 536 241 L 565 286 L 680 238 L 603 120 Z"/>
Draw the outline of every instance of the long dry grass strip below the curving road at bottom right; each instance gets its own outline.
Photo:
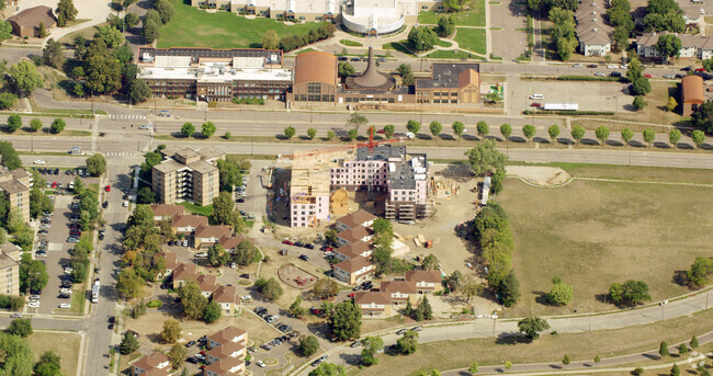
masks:
<path id="1" fill-rule="evenodd" d="M 565 353 L 569 354 L 573 362 L 593 360 L 598 354 L 606 358 L 658 349 L 660 341 L 672 344 L 690 340 L 693 334 L 701 334 L 711 329 L 713 310 L 708 310 L 692 317 L 619 330 L 546 334 L 533 343 L 511 343 L 493 338 L 422 343 L 411 356 L 382 354 L 378 356 L 378 365 L 365 367 L 361 372 L 354 368 L 350 371 L 351 374 L 359 375 L 414 375 L 419 371 L 428 372 L 432 368 L 445 371 L 467 367 L 472 362 L 478 362 L 480 366 L 502 364 L 506 361 L 513 364 L 561 362 Z M 676 360 L 668 357 L 664 362 Z"/>

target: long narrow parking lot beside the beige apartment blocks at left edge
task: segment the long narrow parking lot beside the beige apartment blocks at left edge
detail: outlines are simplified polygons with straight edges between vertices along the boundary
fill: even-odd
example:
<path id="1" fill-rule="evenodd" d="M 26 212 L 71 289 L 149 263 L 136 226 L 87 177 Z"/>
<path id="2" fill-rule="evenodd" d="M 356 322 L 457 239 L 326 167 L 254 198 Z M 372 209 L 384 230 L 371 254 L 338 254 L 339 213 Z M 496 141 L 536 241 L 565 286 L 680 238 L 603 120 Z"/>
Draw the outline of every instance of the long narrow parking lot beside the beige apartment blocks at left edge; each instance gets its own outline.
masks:
<path id="1" fill-rule="evenodd" d="M 47 169 L 44 168 L 43 169 Z M 54 172 L 54 171 L 53 171 Z M 76 173 L 73 175 L 67 174 L 65 170 L 59 170 L 58 174 L 42 174 L 43 179 L 52 186 L 53 183 L 61 184 L 61 187 L 49 187 L 49 190 L 55 191 L 55 193 L 66 193 L 66 187 L 70 182 L 77 178 Z M 95 184 L 99 180 L 97 178 L 80 178 L 84 184 Z M 69 309 L 60 309 L 61 304 L 71 304 L 71 297 L 60 298 L 60 288 L 63 278 L 66 278 L 66 273 L 64 267 L 69 264 L 69 250 L 73 247 L 73 243 L 67 242 L 70 233 L 70 218 L 72 216 L 72 195 L 68 194 L 54 194 L 52 195 L 55 202 L 55 209 L 52 216 L 45 218 L 49 219 L 49 223 L 45 219 L 45 223 L 39 220 L 36 225 L 38 227 L 38 232 L 36 236 L 35 253 L 33 257 L 35 259 L 42 260 L 46 264 L 47 274 L 49 280 L 47 286 L 39 294 L 39 307 L 36 308 L 36 311 L 39 314 L 69 314 Z M 78 233 L 77 233 L 78 235 Z M 46 255 L 38 250 L 44 250 Z M 68 286 L 68 285 L 66 285 Z M 79 292 L 84 289 L 79 287 Z M 77 294 L 72 292 L 70 294 Z M 75 315 L 77 312 L 73 312 Z"/>

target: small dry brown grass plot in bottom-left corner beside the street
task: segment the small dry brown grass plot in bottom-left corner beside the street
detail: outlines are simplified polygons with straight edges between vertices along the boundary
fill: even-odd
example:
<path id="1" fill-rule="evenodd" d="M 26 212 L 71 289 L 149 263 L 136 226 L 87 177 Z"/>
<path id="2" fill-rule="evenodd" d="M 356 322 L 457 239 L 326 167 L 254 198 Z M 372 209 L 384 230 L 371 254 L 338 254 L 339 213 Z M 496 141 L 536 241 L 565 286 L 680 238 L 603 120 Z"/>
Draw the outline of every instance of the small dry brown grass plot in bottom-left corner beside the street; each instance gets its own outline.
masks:
<path id="1" fill-rule="evenodd" d="M 64 333 L 54 331 L 34 331 L 27 337 L 35 362 L 46 351 L 54 351 L 61 357 L 61 373 L 65 375 L 77 374 L 77 361 L 79 358 L 79 345 L 81 337 L 77 333 Z"/>

